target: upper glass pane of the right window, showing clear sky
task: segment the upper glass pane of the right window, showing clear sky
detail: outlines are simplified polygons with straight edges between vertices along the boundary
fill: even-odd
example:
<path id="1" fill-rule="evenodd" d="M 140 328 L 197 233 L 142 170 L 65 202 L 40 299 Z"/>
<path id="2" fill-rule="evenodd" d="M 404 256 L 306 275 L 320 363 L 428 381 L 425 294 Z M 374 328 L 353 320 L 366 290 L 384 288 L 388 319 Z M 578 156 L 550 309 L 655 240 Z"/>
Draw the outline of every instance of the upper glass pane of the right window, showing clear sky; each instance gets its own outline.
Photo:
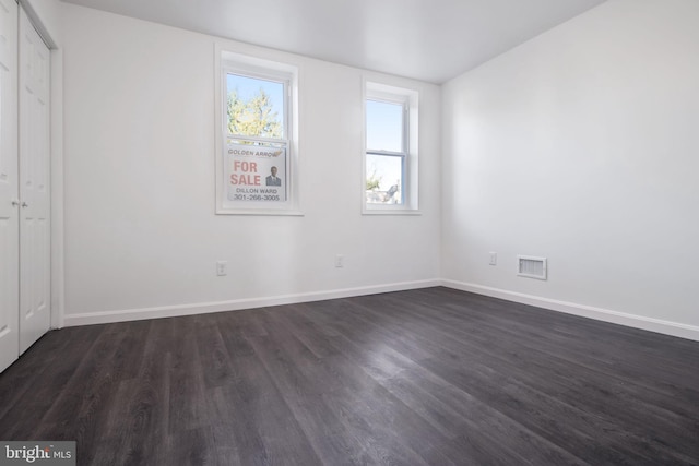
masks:
<path id="1" fill-rule="evenodd" d="M 403 152 L 403 106 L 367 100 L 367 148 Z"/>

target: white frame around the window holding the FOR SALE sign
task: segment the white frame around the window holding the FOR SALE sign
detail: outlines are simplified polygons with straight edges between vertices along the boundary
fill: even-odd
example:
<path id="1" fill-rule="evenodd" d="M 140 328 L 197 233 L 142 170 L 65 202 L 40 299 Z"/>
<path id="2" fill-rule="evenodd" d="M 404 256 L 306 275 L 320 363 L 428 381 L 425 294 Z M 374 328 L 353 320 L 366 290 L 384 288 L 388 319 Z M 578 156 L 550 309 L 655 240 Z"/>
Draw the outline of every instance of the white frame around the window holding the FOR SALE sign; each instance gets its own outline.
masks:
<path id="1" fill-rule="evenodd" d="M 216 206 L 217 215 L 303 215 L 298 202 L 298 69 L 294 65 L 237 52 L 216 46 Z M 245 77 L 281 83 L 284 86 L 283 135 L 281 139 L 248 136 L 228 132 L 227 76 Z M 266 147 L 284 147 L 285 201 L 233 201 L 227 198 L 228 170 L 225 167 L 228 144 L 233 141 L 250 141 Z M 264 176 L 261 174 L 260 176 Z"/>

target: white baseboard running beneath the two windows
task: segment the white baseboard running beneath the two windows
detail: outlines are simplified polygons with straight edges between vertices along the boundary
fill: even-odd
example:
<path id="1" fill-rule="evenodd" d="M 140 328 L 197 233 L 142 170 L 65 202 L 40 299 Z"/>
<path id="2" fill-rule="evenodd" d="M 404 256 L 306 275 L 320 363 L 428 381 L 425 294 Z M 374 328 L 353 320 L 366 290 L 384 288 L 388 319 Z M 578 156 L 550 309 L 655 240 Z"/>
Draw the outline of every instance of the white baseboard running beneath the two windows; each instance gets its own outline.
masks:
<path id="1" fill-rule="evenodd" d="M 406 289 L 440 286 L 441 280 L 403 282 L 387 285 L 357 288 L 333 289 L 328 291 L 300 292 L 263 298 L 235 299 L 232 301 L 200 302 L 194 304 L 164 306 L 158 308 L 127 309 L 105 312 L 67 313 L 64 326 L 105 324 L 112 322 L 141 321 L 145 319 L 176 318 L 180 315 L 206 314 L 211 312 L 238 311 L 242 309 L 264 308 L 269 306 L 295 304 L 299 302 L 323 301 L 327 299 L 350 298 L 353 296 L 376 295 L 379 292 L 403 291 Z"/>

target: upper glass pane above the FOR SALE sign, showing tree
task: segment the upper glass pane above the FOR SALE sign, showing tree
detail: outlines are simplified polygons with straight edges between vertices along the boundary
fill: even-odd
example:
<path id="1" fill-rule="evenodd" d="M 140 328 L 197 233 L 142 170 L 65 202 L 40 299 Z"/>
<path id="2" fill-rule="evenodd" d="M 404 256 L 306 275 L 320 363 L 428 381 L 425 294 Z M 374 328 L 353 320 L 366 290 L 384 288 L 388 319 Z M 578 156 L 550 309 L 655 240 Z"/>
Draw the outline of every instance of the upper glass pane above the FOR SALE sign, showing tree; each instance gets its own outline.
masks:
<path id="1" fill-rule="evenodd" d="M 228 73 L 228 133 L 284 139 L 284 84 Z"/>

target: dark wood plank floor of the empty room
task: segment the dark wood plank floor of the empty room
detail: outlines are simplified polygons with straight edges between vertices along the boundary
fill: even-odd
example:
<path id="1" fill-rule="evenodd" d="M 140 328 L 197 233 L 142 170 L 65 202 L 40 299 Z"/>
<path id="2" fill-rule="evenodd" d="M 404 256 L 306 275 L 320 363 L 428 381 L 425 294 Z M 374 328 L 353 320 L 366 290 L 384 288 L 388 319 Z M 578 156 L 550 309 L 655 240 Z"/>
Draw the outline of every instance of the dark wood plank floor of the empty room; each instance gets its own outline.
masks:
<path id="1" fill-rule="evenodd" d="M 699 343 L 429 288 L 70 327 L 0 440 L 79 465 L 697 465 Z"/>

